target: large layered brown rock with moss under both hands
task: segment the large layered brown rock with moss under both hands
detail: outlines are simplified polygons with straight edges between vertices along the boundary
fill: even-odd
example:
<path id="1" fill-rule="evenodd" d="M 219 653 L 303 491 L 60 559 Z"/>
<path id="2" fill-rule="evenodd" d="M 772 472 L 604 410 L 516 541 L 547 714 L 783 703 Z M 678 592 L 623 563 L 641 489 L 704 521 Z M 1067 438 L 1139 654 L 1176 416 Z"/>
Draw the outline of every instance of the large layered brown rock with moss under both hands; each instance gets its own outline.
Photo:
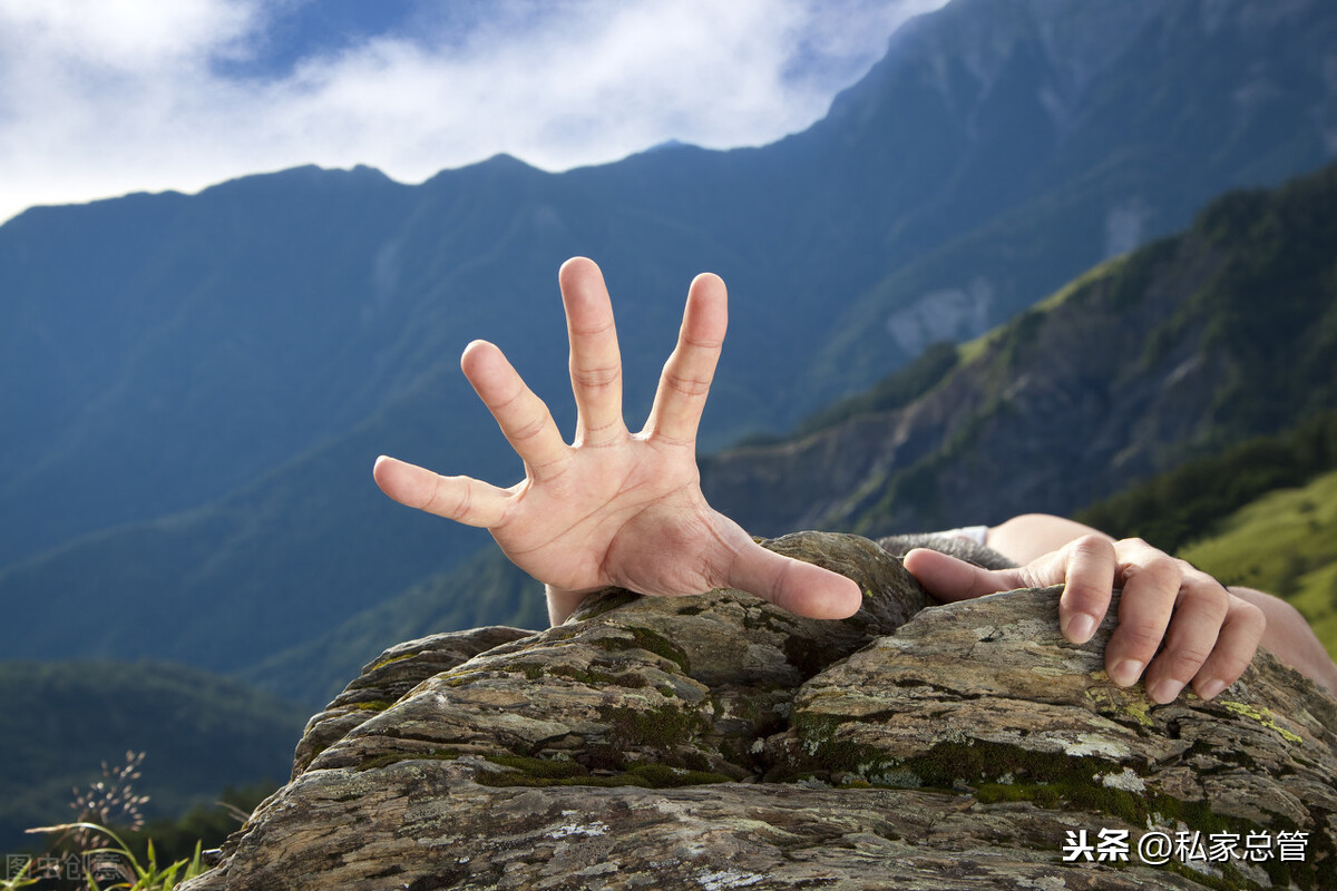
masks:
<path id="1" fill-rule="evenodd" d="M 864 608 L 607 592 L 388 651 L 185 887 L 1337 887 L 1337 703 L 1270 655 L 1155 705 L 1102 671 L 1112 618 L 1062 640 L 1058 589 L 929 606 L 864 538 L 769 544 Z M 1154 864 L 1151 831 L 1269 856 Z"/>

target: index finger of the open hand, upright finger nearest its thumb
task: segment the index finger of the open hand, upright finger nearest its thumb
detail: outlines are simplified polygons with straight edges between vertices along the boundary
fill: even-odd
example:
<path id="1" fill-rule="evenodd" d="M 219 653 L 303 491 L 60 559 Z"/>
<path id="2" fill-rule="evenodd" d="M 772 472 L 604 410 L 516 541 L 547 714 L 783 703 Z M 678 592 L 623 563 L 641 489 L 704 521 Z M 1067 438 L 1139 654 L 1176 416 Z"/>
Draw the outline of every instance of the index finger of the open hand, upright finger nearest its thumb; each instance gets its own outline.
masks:
<path id="1" fill-rule="evenodd" d="M 664 363 L 646 433 L 694 442 L 729 326 L 729 297 L 718 275 L 703 273 L 687 290 L 678 346 Z"/>

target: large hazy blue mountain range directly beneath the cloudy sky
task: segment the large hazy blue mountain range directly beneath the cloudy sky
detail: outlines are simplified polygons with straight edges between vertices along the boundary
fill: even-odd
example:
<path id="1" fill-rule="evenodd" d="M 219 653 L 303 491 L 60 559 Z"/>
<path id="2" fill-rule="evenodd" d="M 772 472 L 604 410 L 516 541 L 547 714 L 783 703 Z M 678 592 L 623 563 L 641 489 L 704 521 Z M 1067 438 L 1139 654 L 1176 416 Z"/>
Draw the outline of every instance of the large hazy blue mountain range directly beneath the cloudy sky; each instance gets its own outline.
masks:
<path id="1" fill-rule="evenodd" d="M 0 227 L 5 645 L 235 672 L 449 570 L 485 538 L 384 501 L 372 460 L 517 477 L 456 367 L 475 337 L 571 427 L 572 254 L 614 290 L 632 422 L 714 269 L 733 334 L 702 446 L 790 429 L 1226 188 L 1322 164 L 1334 45 L 1321 0 L 956 0 L 771 146 L 21 214 Z"/>

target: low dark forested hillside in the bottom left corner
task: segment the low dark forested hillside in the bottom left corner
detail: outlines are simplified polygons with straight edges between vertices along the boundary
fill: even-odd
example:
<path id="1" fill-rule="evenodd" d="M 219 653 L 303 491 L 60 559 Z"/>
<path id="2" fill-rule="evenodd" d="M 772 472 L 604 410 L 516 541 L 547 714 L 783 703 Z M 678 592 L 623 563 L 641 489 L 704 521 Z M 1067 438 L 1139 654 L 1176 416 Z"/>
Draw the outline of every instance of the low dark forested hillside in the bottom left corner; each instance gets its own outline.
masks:
<path id="1" fill-rule="evenodd" d="M 152 818 L 211 804 L 227 787 L 282 783 L 306 711 L 238 681 L 163 663 L 0 661 L 0 847 L 75 818 L 71 789 L 144 752 L 136 792 Z"/>

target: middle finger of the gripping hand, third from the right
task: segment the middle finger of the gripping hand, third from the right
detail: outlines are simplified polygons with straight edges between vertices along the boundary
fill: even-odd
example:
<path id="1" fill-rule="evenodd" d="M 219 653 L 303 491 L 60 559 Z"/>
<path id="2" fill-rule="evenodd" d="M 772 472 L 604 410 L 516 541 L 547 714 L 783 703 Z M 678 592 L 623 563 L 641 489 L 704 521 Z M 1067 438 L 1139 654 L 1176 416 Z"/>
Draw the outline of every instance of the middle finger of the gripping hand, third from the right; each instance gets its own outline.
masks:
<path id="1" fill-rule="evenodd" d="M 1119 625 L 1104 648 L 1104 665 L 1115 684 L 1130 687 L 1165 639 L 1183 570 L 1177 560 L 1136 538 L 1116 542 L 1115 552 L 1123 593 Z"/>

